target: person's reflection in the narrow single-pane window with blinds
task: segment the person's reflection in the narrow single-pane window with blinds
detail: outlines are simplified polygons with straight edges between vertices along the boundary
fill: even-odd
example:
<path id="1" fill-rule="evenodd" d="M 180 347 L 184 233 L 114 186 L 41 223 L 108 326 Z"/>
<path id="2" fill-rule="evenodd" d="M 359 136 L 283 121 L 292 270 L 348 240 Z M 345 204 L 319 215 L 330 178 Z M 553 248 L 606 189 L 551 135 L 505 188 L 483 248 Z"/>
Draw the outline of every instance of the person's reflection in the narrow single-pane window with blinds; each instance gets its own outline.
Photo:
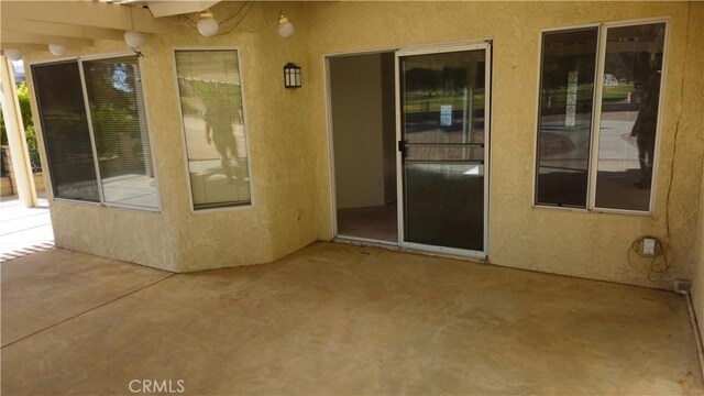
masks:
<path id="1" fill-rule="evenodd" d="M 237 108 L 232 106 L 232 92 L 228 86 L 218 84 L 206 107 L 206 140 L 208 144 L 215 142 L 222 170 L 230 182 L 237 179 L 238 146 L 232 133 L 232 123 L 237 121 Z"/>

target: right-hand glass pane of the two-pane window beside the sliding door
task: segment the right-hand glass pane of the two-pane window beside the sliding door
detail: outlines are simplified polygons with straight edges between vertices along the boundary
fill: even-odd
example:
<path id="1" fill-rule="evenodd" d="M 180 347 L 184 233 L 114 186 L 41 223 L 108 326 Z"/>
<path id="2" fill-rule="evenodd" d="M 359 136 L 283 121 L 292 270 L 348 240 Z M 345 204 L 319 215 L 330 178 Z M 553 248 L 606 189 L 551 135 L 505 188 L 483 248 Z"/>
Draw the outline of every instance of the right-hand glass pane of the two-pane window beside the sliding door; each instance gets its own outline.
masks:
<path id="1" fill-rule="evenodd" d="M 664 23 L 607 30 L 596 201 L 649 210 Z"/>

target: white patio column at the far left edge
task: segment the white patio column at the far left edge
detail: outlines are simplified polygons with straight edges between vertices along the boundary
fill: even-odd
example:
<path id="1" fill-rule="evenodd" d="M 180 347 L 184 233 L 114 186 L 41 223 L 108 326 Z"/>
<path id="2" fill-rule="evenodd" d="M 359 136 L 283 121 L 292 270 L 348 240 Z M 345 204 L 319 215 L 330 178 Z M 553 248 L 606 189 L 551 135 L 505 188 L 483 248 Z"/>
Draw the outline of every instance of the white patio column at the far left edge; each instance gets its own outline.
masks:
<path id="1" fill-rule="evenodd" d="M 0 102 L 2 105 L 2 118 L 8 132 L 10 155 L 12 157 L 12 172 L 18 195 L 28 208 L 36 206 L 36 190 L 34 189 L 34 176 L 30 165 L 30 155 L 26 148 L 22 112 L 18 100 L 18 88 L 14 85 L 12 63 L 4 56 L 0 56 Z"/>

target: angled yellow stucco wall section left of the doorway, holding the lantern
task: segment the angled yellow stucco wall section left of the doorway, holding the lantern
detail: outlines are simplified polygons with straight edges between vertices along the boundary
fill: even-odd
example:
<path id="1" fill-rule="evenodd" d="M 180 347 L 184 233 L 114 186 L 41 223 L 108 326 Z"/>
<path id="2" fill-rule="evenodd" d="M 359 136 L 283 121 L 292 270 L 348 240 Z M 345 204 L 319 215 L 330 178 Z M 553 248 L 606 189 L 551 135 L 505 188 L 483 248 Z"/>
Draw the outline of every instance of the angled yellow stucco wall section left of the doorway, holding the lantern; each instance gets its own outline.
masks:
<path id="1" fill-rule="evenodd" d="M 239 6 L 226 2 L 212 11 L 223 18 Z M 301 21 L 296 34 L 286 40 L 278 37 L 273 25 L 279 10 Z M 183 272 L 268 262 L 315 241 L 307 109 L 304 94 L 283 87 L 286 63 L 307 69 L 304 20 L 301 4 L 257 2 L 229 34 L 207 38 L 195 28 L 172 21 L 161 34 L 146 35 L 141 73 L 161 212 L 53 200 L 56 245 Z M 173 51 L 194 46 L 240 50 L 252 158 L 251 207 L 204 212 L 190 208 Z M 69 56 L 125 50 L 124 43 L 103 41 L 80 53 L 72 50 Z M 51 58 L 47 53 L 30 53 L 25 61 Z"/>

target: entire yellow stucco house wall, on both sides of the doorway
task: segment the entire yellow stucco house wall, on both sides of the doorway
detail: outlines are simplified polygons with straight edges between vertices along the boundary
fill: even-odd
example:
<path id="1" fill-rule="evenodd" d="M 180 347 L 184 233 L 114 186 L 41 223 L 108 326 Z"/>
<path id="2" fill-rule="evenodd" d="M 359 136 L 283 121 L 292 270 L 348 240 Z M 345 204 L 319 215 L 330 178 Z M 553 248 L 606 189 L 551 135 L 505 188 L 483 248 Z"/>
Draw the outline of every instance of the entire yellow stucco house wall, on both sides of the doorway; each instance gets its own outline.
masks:
<path id="1" fill-rule="evenodd" d="M 226 15 L 235 7 L 222 2 L 213 12 Z M 283 40 L 274 28 L 249 33 L 271 24 L 279 10 L 296 23 L 294 36 Z M 704 79 L 703 14 L 697 2 L 256 2 L 239 29 L 216 37 L 170 23 L 163 34 L 147 35 L 142 48 L 161 212 L 53 201 L 57 245 L 183 272 L 268 262 L 329 240 L 324 55 L 491 38 L 490 262 L 653 287 L 692 279 L 704 135 L 696 88 Z M 647 18 L 670 21 L 653 215 L 532 208 L 540 30 Z M 252 207 L 190 209 L 173 50 L 193 46 L 241 50 Z M 124 44 L 85 50 L 113 51 Z M 29 61 L 38 57 L 47 55 L 30 54 Z M 288 62 L 302 67 L 301 89 L 283 88 Z M 626 260 L 644 234 L 669 241 L 671 268 L 658 283 L 648 280 L 646 263 L 634 267 Z"/>

